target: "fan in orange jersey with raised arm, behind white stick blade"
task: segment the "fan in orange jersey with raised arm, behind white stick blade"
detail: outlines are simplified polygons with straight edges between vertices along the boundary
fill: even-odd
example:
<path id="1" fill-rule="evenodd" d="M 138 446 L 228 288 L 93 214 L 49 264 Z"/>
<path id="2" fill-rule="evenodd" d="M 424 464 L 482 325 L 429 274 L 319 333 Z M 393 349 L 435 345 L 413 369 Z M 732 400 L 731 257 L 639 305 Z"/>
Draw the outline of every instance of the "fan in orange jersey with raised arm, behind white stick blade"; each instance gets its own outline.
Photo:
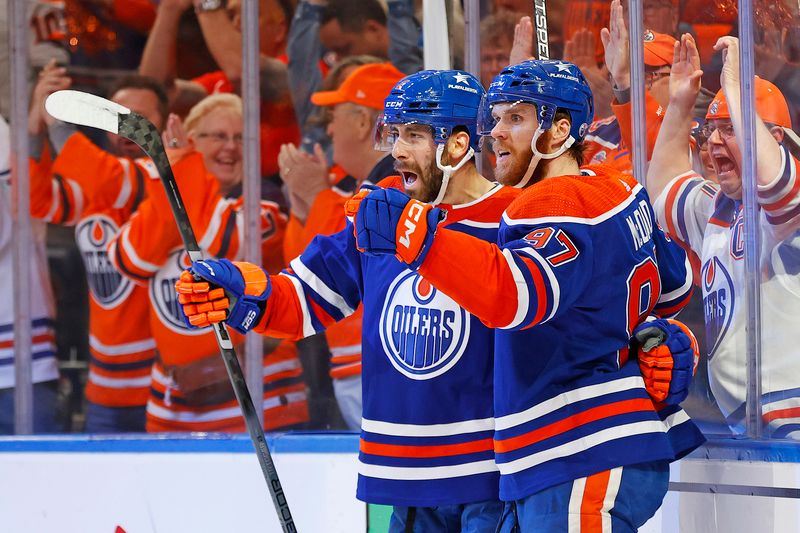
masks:
<path id="1" fill-rule="evenodd" d="M 112 266 L 106 246 L 136 210 L 145 194 L 146 176 L 155 176 L 155 168 L 149 160 L 136 159 L 142 152 L 122 137 L 110 135 L 106 152 L 71 126 L 55 122 L 44 110 L 44 99 L 70 83 L 65 69 L 51 62 L 34 91 L 29 123 L 38 135 L 32 139 L 31 213 L 75 226 L 86 267 L 90 296 L 86 431 L 144 431 L 155 349 L 146 321 L 147 292 Z M 121 80 L 111 99 L 156 127 L 166 119 L 164 89 L 149 78 Z M 53 154 L 41 149 L 45 122 Z"/>

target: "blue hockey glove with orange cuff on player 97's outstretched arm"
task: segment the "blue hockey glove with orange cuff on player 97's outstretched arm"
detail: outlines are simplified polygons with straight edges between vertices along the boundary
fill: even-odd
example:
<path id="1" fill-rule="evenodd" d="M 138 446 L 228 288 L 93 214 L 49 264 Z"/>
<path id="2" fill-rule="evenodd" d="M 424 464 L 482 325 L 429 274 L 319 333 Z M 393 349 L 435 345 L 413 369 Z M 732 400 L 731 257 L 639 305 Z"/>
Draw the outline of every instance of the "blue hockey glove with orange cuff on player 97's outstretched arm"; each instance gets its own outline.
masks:
<path id="1" fill-rule="evenodd" d="M 397 189 L 374 189 L 354 200 L 355 209 L 352 204 L 345 209 L 355 211 L 358 249 L 370 255 L 394 254 L 412 269 L 419 268 L 445 212 Z"/>

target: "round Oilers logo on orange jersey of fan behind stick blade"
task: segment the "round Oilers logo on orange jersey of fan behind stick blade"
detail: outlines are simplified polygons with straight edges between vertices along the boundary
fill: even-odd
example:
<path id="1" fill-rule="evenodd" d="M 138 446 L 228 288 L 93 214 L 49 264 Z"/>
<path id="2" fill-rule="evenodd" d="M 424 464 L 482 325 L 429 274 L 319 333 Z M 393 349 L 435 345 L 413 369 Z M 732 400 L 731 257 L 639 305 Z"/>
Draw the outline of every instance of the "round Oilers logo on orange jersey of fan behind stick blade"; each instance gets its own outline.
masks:
<path id="1" fill-rule="evenodd" d="M 103 215 L 85 218 L 75 228 L 75 242 L 86 268 L 86 280 L 92 297 L 103 309 L 111 309 L 123 301 L 133 289 L 109 261 L 106 248 L 119 227 Z"/>

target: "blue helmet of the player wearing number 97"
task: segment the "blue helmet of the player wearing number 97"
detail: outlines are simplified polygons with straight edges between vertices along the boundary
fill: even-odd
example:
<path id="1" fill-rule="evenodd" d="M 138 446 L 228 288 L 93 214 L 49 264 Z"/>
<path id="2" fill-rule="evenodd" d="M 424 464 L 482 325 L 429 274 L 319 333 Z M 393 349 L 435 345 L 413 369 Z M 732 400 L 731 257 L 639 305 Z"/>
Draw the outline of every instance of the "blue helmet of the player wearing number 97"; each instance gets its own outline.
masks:
<path id="1" fill-rule="evenodd" d="M 491 134 L 495 124 L 492 107 L 501 102 L 535 105 L 539 129 L 543 131 L 553 125 L 556 109 L 569 111 L 573 138 L 569 145 L 583 141 L 594 117 L 594 99 L 586 78 L 578 67 L 560 60 L 531 59 L 508 66 L 495 76 L 481 104 L 481 135 Z"/>

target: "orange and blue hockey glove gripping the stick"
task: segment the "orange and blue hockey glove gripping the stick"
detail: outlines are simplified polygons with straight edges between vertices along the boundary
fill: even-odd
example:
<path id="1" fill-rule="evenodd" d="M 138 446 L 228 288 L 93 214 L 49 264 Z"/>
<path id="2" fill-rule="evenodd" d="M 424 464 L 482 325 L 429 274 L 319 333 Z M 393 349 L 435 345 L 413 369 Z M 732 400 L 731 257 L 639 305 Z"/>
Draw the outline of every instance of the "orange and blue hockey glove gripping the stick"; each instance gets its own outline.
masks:
<path id="1" fill-rule="evenodd" d="M 190 326 L 202 328 L 225 321 L 244 334 L 264 314 L 272 284 L 269 274 L 258 265 L 208 259 L 195 261 L 184 270 L 175 289 Z"/>

